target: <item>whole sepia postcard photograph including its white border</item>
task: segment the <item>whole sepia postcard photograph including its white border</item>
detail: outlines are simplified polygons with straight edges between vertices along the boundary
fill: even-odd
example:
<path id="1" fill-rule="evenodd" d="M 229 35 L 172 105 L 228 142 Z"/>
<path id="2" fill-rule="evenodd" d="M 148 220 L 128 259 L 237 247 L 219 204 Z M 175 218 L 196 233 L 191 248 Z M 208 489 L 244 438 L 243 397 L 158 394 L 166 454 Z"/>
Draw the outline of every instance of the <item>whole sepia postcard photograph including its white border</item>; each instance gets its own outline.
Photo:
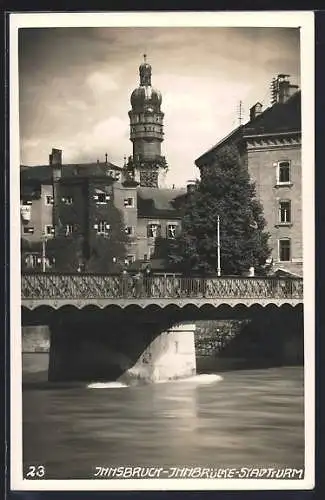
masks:
<path id="1" fill-rule="evenodd" d="M 10 18 L 12 489 L 313 488 L 313 14 Z"/>

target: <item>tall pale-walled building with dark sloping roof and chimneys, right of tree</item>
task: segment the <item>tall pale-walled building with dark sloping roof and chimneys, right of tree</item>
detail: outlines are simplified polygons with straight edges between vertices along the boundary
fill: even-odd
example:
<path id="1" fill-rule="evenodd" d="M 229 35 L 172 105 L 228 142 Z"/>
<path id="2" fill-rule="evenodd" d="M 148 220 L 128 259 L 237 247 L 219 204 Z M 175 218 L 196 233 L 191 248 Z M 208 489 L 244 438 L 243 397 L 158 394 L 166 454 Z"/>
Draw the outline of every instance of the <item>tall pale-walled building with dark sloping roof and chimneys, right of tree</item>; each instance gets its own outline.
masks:
<path id="1" fill-rule="evenodd" d="M 250 110 L 250 120 L 202 154 L 196 161 L 201 177 L 213 168 L 223 147 L 238 148 L 256 185 L 270 233 L 273 270 L 302 274 L 301 95 L 288 75 L 273 84 L 273 105 Z"/>

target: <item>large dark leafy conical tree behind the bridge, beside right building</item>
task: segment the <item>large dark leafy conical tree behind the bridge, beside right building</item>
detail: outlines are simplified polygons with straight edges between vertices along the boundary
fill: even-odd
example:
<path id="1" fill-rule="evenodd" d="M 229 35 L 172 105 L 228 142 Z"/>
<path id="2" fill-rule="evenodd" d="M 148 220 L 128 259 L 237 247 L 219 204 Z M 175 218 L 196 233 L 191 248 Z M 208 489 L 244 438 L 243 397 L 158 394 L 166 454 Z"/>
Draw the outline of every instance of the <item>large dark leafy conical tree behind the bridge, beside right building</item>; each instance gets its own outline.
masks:
<path id="1" fill-rule="evenodd" d="M 222 274 L 257 273 L 270 254 L 263 209 L 237 148 L 224 147 L 215 163 L 187 194 L 182 233 L 170 244 L 169 260 L 183 272 L 212 272 L 217 267 L 216 226 L 220 217 Z"/>

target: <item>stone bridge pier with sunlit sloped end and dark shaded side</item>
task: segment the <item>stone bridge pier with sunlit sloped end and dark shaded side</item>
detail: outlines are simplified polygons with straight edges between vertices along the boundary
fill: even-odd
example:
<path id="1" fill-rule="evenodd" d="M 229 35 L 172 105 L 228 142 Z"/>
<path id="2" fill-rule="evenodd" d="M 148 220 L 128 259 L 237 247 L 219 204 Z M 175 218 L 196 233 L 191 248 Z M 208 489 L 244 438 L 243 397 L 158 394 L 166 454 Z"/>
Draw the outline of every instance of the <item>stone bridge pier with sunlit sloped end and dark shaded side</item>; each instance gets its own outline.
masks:
<path id="1" fill-rule="evenodd" d="M 48 380 L 132 384 L 191 376 L 196 373 L 194 331 L 191 322 L 56 317 L 50 324 Z"/>

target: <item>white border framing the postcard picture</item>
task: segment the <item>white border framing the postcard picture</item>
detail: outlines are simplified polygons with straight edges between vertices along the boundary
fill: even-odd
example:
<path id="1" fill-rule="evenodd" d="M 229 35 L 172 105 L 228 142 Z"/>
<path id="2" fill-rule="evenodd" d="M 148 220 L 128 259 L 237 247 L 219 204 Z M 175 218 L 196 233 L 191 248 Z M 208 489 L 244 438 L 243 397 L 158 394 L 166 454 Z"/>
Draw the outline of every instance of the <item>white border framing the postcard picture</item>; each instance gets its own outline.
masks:
<path id="1" fill-rule="evenodd" d="M 312 489 L 315 469 L 314 320 L 314 14 L 279 12 L 27 13 L 10 14 L 10 302 L 11 302 L 11 489 L 12 490 L 280 490 Z M 18 29 L 27 27 L 300 27 L 302 87 L 302 189 L 305 326 L 304 480 L 24 480 L 22 479 L 22 373 L 20 318 Z M 308 367 L 308 369 L 307 369 Z M 307 398 L 306 398 L 307 395 Z"/>

